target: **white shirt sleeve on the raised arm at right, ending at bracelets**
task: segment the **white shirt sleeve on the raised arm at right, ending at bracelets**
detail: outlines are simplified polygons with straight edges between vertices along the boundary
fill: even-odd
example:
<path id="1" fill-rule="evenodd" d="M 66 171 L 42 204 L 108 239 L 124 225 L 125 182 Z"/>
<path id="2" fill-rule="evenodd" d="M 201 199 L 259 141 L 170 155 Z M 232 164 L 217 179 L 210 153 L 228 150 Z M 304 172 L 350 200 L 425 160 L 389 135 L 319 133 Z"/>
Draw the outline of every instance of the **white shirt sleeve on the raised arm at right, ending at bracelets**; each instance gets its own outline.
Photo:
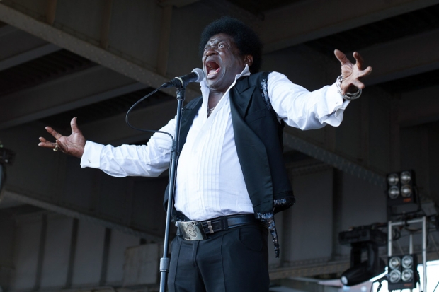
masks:
<path id="1" fill-rule="evenodd" d="M 267 90 L 278 118 L 302 130 L 319 129 L 326 124 L 338 127 L 343 120 L 343 111 L 349 104 L 337 92 L 335 83 L 308 91 L 278 72 L 268 75 Z"/>

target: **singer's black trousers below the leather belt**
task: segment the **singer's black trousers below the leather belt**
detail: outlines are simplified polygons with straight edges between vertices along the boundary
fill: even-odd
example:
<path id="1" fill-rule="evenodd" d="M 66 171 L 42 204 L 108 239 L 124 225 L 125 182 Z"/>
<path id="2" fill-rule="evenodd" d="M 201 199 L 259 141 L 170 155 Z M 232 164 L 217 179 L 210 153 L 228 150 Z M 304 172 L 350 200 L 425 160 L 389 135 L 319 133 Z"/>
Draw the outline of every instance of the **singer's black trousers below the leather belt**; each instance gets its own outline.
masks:
<path id="1" fill-rule="evenodd" d="M 256 224 L 171 246 L 170 292 L 267 292 L 268 230 Z"/>

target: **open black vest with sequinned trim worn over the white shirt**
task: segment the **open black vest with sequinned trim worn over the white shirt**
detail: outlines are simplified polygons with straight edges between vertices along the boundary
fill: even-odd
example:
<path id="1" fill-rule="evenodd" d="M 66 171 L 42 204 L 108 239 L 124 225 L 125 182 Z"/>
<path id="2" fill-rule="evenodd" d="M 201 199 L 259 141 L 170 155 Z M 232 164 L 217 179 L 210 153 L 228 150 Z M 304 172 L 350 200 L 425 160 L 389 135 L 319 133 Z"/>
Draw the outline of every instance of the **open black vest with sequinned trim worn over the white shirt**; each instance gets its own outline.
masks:
<path id="1" fill-rule="evenodd" d="M 239 78 L 230 90 L 230 111 L 236 151 L 254 214 L 270 229 L 278 256 L 274 214 L 292 206 L 295 198 L 282 155 L 284 124 L 278 122 L 268 98 L 268 74 Z M 183 148 L 202 103 L 203 98 L 195 98 L 183 108 L 179 149 Z M 165 206 L 167 199 L 166 189 Z M 176 218 L 184 220 L 178 215 Z"/>

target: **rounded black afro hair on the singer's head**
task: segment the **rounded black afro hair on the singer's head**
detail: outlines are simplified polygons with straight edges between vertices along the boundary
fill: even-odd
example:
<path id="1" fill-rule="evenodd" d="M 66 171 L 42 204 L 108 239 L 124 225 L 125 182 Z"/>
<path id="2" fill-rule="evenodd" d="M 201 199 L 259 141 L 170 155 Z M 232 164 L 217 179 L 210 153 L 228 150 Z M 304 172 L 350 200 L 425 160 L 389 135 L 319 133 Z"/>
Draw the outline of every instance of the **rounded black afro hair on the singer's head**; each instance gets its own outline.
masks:
<path id="1" fill-rule="evenodd" d="M 256 73 L 261 69 L 262 42 L 259 40 L 258 35 L 243 22 L 229 16 L 217 19 L 205 27 L 200 39 L 200 56 L 203 56 L 207 41 L 219 33 L 225 33 L 233 37 L 240 54 L 251 54 L 253 56 L 253 64 L 249 67 L 251 73 Z"/>

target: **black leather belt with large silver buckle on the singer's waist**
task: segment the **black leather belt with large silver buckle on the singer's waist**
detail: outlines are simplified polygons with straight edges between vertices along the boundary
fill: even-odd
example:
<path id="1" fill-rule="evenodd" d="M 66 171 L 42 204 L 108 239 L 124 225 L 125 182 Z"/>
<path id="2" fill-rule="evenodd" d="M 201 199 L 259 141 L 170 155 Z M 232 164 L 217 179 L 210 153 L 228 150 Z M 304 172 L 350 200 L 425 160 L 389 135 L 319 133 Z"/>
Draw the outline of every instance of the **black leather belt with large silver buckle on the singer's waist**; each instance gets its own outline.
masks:
<path id="1" fill-rule="evenodd" d="M 184 240 L 205 240 L 207 234 L 248 224 L 261 224 L 253 214 L 236 214 L 205 221 L 178 221 L 177 235 Z"/>

